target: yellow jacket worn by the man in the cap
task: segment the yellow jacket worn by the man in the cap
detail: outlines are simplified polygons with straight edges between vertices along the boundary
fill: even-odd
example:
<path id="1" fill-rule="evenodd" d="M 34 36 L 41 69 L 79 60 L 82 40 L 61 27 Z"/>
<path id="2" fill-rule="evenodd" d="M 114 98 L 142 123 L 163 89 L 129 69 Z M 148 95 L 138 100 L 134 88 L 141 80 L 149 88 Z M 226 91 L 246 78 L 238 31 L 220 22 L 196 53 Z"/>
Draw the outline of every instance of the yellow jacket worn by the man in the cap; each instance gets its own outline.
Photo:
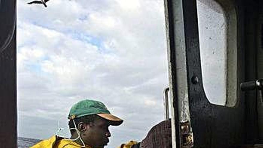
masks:
<path id="1" fill-rule="evenodd" d="M 136 141 L 129 141 L 127 144 L 122 144 L 118 148 L 131 148 L 132 145 L 137 144 Z M 43 140 L 31 148 L 83 148 L 81 145 L 77 144 L 74 141 L 70 141 L 65 138 L 57 137 L 56 135 L 47 139 Z M 91 148 L 86 146 L 85 148 Z"/>

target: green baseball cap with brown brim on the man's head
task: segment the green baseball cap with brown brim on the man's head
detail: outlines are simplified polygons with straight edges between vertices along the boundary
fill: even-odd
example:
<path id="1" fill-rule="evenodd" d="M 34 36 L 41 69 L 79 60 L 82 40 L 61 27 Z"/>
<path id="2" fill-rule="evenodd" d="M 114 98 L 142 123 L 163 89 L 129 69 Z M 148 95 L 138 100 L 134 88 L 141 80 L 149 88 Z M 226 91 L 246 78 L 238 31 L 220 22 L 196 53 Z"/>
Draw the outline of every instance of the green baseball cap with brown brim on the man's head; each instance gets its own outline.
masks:
<path id="1" fill-rule="evenodd" d="M 79 118 L 86 115 L 98 115 L 101 118 L 111 121 L 111 125 L 117 126 L 123 123 L 123 120 L 111 115 L 107 107 L 100 101 L 82 100 L 74 104 L 68 115 L 68 119 Z"/>

